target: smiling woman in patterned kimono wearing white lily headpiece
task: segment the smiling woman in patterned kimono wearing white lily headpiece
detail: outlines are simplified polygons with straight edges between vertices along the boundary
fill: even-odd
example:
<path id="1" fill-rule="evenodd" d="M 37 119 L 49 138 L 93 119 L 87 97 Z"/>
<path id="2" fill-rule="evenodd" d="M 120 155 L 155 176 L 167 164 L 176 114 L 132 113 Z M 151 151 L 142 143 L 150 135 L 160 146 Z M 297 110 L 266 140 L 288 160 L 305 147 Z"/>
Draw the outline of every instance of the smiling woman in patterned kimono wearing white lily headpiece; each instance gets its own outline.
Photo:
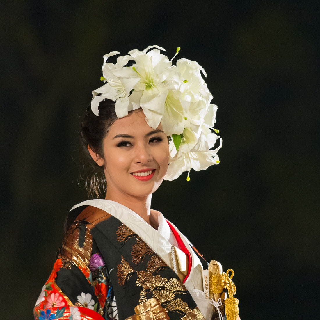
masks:
<path id="1" fill-rule="evenodd" d="M 115 65 L 107 59 L 119 52 L 104 56 L 107 83 L 92 92 L 82 140 L 94 168 L 89 190 L 102 188 L 105 199 L 69 212 L 35 319 L 237 318 L 233 271 L 229 278 L 214 260 L 208 270 L 188 239 L 151 209 L 164 179 L 188 171 L 190 180 L 191 168 L 219 163 L 221 147 L 220 140 L 212 149 L 220 138 L 217 107 L 203 68 L 186 59 L 172 66 L 160 50 L 132 50 Z"/>

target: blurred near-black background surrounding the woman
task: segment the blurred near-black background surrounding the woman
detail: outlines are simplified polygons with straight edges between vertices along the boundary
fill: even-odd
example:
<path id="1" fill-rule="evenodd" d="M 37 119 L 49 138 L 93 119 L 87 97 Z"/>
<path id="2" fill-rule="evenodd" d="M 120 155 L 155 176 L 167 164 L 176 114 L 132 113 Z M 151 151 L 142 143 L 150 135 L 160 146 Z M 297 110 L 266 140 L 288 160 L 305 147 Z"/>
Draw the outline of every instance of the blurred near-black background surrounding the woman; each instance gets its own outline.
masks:
<path id="1" fill-rule="evenodd" d="M 102 56 L 148 45 L 196 60 L 220 164 L 153 196 L 240 316 L 319 319 L 318 1 L 12 0 L 1 14 L 1 319 L 31 319 L 78 187 L 78 130 Z"/>

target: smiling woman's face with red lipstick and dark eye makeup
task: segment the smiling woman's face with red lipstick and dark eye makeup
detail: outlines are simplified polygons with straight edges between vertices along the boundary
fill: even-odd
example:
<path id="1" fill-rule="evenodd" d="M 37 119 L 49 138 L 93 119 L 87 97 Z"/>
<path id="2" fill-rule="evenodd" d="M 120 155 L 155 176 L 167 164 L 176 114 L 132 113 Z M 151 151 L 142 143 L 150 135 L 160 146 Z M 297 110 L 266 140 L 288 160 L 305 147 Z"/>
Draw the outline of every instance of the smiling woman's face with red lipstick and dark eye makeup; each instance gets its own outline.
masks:
<path id="1" fill-rule="evenodd" d="M 168 169 L 169 143 L 161 124 L 153 130 L 142 111 L 117 119 L 103 140 L 107 199 L 148 196 Z M 99 164 L 99 163 L 98 163 Z"/>

